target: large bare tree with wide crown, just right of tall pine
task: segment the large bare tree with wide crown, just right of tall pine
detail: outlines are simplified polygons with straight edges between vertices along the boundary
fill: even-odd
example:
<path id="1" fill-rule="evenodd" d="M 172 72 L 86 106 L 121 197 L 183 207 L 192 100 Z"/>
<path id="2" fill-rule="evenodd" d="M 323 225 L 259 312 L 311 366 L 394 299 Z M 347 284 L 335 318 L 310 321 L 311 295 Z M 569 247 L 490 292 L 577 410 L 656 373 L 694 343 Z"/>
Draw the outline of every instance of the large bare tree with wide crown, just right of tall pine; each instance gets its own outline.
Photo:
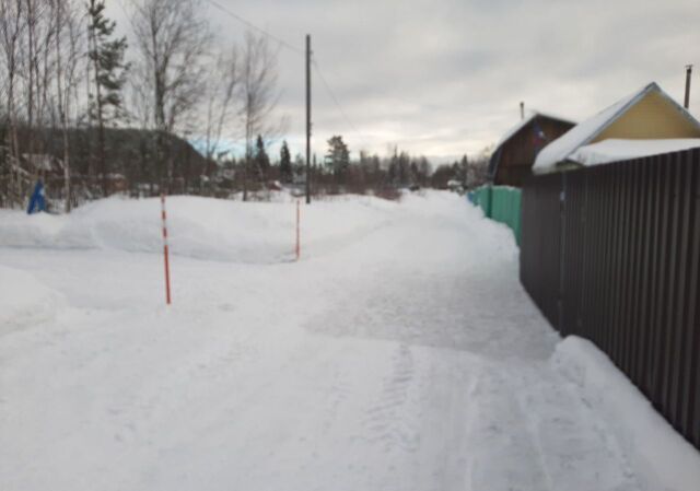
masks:
<path id="1" fill-rule="evenodd" d="M 203 95 L 210 34 L 201 17 L 201 0 L 132 0 L 131 25 L 139 48 L 143 81 L 152 90 L 159 173 L 173 177 L 166 137 Z"/>

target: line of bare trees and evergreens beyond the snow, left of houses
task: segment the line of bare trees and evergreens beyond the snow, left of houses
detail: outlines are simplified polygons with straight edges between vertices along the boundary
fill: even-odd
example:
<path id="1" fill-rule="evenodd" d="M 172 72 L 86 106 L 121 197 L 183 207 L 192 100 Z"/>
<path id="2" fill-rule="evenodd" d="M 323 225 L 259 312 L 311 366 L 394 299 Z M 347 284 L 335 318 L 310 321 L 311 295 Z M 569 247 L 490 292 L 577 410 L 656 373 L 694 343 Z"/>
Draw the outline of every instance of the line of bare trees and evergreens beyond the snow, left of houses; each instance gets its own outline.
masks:
<path id="1" fill-rule="evenodd" d="M 0 206 L 21 204 L 37 177 L 67 211 L 116 191 L 248 199 L 271 182 L 306 178 L 317 192 L 445 187 L 447 174 L 466 182 L 459 165 L 433 173 L 397 149 L 353 160 L 340 136 L 310 176 L 287 142 L 269 157 L 284 121 L 273 114 L 268 38 L 217 39 L 203 0 L 122 4 L 128 39 L 105 0 L 0 0 Z M 233 155 L 232 141 L 243 152 Z"/>

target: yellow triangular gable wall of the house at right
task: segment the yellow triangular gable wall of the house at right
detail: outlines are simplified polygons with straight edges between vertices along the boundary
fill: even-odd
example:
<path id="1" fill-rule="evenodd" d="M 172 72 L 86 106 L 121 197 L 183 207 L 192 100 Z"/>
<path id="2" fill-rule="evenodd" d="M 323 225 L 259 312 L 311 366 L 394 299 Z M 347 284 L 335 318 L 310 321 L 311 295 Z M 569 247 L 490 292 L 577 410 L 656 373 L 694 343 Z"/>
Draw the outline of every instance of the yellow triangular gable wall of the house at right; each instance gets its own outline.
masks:
<path id="1" fill-rule="evenodd" d="M 695 127 L 673 104 L 658 93 L 646 94 L 617 121 L 608 126 L 592 143 L 608 138 L 700 138 Z"/>

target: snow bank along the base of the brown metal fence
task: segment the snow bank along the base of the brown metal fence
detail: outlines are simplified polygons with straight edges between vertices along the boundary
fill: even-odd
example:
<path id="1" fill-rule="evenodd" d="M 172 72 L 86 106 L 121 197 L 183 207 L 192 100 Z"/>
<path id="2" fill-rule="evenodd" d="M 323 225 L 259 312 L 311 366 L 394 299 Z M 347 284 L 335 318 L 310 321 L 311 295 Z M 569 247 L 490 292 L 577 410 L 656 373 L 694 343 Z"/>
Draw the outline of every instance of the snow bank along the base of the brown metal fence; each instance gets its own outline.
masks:
<path id="1" fill-rule="evenodd" d="M 700 453 L 686 442 L 649 400 L 592 342 L 570 336 L 551 363 L 582 388 L 593 409 L 616 424 L 615 433 L 649 491 L 697 491 Z"/>

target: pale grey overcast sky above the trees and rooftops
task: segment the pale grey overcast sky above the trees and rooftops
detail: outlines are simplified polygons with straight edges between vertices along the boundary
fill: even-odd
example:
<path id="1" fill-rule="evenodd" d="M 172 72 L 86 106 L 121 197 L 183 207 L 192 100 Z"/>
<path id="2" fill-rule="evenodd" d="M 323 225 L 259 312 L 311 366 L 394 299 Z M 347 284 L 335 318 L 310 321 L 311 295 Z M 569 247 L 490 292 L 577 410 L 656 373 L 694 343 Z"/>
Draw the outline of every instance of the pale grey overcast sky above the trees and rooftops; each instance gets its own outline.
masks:
<path id="1" fill-rule="evenodd" d="M 699 0 L 217 0 L 287 43 L 312 48 L 343 117 L 313 75 L 314 149 L 342 135 L 353 155 L 388 145 L 476 154 L 527 109 L 584 119 L 651 81 L 700 116 Z M 125 0 L 108 0 L 122 25 Z M 224 46 L 246 27 L 213 5 Z M 279 52 L 278 113 L 303 150 L 304 58 Z"/>

